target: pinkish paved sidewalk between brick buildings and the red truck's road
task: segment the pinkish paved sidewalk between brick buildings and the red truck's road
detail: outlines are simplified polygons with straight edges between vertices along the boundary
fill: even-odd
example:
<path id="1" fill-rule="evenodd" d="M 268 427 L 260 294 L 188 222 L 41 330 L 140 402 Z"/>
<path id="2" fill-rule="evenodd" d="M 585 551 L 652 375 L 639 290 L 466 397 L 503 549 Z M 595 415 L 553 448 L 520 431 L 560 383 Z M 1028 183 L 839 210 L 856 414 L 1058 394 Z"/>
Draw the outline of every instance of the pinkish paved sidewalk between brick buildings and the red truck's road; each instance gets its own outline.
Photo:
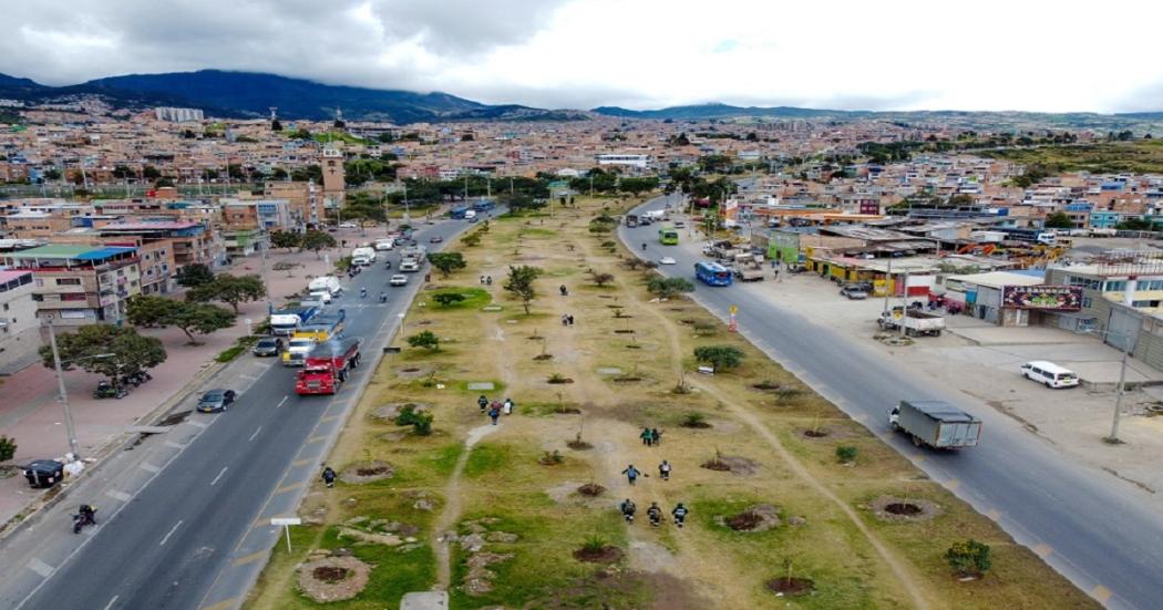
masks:
<path id="1" fill-rule="evenodd" d="M 341 235 L 337 234 L 336 239 L 340 238 Z M 358 239 L 358 231 L 344 231 L 342 238 L 348 239 L 350 246 L 352 239 Z M 323 251 L 321 254 L 330 254 L 333 261 L 342 256 L 340 249 Z M 274 264 L 280 261 L 299 263 L 302 266 L 291 271 L 273 271 Z M 258 274 L 261 270 L 262 261 L 257 257 L 250 257 L 236 259 L 228 272 Z M 314 252 L 270 252 L 265 279 L 271 302 L 278 307 L 286 301 L 286 296 L 301 290 L 307 285 L 308 274 L 324 275 L 329 272 L 330 266 L 317 259 Z M 229 304 L 224 307 L 229 308 Z M 81 455 L 98 455 L 129 426 L 150 424 L 151 422 L 142 418 L 181 392 L 199 373 L 215 366 L 214 357 L 230 347 L 235 339 L 245 336 L 248 318 L 255 326 L 262 323 L 266 318 L 266 301 L 242 303 L 234 326 L 200 336 L 199 340 L 204 344 L 198 346 L 186 345 L 186 336 L 179 329 L 138 329 L 142 335 L 162 339 L 167 357 L 165 363 L 150 371 L 154 375 L 151 381 L 131 388 L 129 395 L 121 400 L 93 399 L 93 388 L 102 379 L 101 375 L 80 369 L 66 372 L 65 388 Z M 247 358 L 252 357 L 249 353 L 238 357 Z M 56 375 L 51 369 L 37 363 L 10 376 L 0 378 L 0 396 L 3 396 L 0 400 L 0 435 L 15 439 L 17 445 L 16 455 L 9 465 L 20 466 L 35 459 L 60 459 L 69 451 L 64 410 L 57 400 Z M 19 471 L 13 472 L 13 476 L 0 479 L 0 524 L 26 510 L 45 491 L 30 488 Z"/>

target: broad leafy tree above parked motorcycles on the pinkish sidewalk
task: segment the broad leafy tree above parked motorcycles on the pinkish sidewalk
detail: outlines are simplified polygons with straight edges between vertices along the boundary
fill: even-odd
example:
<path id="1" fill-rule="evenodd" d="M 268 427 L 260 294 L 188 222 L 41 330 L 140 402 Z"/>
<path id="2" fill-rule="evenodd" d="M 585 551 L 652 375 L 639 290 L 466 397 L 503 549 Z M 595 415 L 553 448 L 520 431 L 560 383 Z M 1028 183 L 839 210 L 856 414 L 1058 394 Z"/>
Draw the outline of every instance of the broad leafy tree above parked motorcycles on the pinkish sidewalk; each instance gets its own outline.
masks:
<path id="1" fill-rule="evenodd" d="M 57 335 L 57 351 L 60 353 L 60 367 L 65 371 L 77 367 L 105 375 L 112 382 L 121 375 L 154 368 L 166 357 L 160 339 L 143 337 L 133 326 L 113 324 L 92 324 L 80 326 L 76 332 Z M 112 356 L 94 358 L 100 354 Z M 50 345 L 42 346 L 40 356 L 45 368 L 56 366 Z"/>

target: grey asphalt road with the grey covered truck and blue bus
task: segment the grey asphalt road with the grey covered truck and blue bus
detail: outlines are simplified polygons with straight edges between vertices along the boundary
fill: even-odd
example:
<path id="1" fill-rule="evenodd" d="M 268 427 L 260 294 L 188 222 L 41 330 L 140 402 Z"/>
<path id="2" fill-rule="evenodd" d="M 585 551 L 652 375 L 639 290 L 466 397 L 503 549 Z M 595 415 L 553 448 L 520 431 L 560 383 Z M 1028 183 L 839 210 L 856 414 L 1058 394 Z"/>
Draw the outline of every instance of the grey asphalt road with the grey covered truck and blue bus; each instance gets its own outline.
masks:
<path id="1" fill-rule="evenodd" d="M 638 210 L 661 209 L 664 198 Z M 678 207 L 677 199 L 675 206 Z M 620 228 L 635 252 L 697 285 L 694 299 L 740 331 L 934 480 L 997 521 L 1006 532 L 1110 608 L 1163 608 L 1163 515 L 1147 493 L 1097 468 L 1071 464 L 1049 443 L 976 399 L 902 369 L 819 320 L 764 300 L 748 285 L 714 288 L 694 279 L 694 257 L 657 239 L 658 225 Z M 686 241 L 687 231 L 680 230 Z M 770 279 L 764 281 L 772 281 Z M 870 331 L 872 329 L 870 328 Z M 886 411 L 902 399 L 951 402 L 983 419 L 980 444 L 962 452 L 918 450 L 889 430 Z M 1096 439 L 1098 442 L 1098 439 Z M 1133 451 L 1133 447 L 1128 447 Z"/>

